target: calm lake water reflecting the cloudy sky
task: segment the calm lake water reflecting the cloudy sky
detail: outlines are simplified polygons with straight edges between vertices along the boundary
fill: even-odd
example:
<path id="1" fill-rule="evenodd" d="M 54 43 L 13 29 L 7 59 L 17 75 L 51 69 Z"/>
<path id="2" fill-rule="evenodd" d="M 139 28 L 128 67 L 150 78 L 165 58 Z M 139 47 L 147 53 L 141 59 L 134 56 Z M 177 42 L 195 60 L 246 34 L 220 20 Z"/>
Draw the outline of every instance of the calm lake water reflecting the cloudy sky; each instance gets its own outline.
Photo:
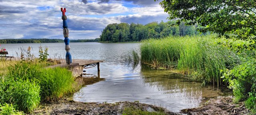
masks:
<path id="1" fill-rule="evenodd" d="M 17 56 L 20 48 L 32 46 L 38 56 L 38 47 L 47 46 L 52 58 L 64 58 L 64 43 L 1 44 L 9 56 Z M 105 81 L 87 85 L 74 94 L 75 101 L 118 102 L 140 101 L 166 107 L 170 111 L 196 107 L 205 99 L 227 95 L 224 89 L 213 86 L 200 87 L 201 83 L 188 82 L 182 75 L 170 70 L 156 70 L 144 64 L 134 65 L 125 61 L 129 51 L 138 49 L 140 43 L 70 43 L 73 59 L 101 59 L 100 77 Z M 97 67 L 86 69 L 86 73 L 97 75 Z"/>

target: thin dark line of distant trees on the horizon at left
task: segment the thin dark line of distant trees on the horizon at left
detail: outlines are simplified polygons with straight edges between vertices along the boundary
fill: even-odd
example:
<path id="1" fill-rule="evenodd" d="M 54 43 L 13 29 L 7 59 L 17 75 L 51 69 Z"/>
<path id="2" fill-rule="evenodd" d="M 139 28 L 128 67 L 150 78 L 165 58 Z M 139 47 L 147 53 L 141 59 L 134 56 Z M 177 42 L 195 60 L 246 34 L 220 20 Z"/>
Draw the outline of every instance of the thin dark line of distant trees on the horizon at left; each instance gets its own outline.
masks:
<path id="1" fill-rule="evenodd" d="M 86 40 L 70 40 L 70 42 L 98 42 L 99 38 Z M 16 44 L 16 43 L 57 43 L 64 42 L 61 39 L 2 39 L 0 44 Z"/>

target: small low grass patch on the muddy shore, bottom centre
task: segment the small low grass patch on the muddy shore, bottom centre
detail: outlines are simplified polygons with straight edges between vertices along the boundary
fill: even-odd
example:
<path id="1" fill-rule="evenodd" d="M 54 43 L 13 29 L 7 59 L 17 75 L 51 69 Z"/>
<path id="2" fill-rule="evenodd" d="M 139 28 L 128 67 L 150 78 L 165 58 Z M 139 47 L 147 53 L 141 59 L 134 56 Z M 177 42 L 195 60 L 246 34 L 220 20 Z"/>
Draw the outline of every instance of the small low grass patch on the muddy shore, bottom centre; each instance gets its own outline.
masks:
<path id="1" fill-rule="evenodd" d="M 122 115 L 166 115 L 164 112 L 148 112 L 132 107 L 125 108 Z"/>

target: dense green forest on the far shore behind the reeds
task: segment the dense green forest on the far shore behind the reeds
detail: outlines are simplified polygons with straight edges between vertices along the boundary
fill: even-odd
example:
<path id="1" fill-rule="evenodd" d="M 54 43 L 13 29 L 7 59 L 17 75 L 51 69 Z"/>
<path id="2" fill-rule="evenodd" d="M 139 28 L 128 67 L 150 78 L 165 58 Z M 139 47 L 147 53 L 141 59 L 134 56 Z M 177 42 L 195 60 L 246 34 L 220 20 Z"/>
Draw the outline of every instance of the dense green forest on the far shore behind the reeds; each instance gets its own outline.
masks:
<path id="1" fill-rule="evenodd" d="M 178 26 L 174 25 L 174 21 L 169 22 L 151 22 L 146 25 L 142 24 L 109 24 L 102 31 L 100 41 L 110 42 L 129 42 L 129 41 L 141 41 L 148 38 L 163 38 L 166 36 L 185 36 L 185 35 L 197 35 L 197 24 L 192 26 L 185 25 L 185 22 L 180 23 Z"/>

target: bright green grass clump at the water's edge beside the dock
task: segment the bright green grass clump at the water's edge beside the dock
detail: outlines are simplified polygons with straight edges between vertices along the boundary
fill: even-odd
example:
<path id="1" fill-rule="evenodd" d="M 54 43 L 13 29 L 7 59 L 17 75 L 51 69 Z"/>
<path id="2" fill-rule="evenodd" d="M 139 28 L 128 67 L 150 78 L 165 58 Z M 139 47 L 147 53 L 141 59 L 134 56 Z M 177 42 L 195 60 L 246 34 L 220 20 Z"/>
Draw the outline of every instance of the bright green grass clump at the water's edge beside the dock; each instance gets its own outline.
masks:
<path id="1" fill-rule="evenodd" d="M 43 100 L 54 101 L 75 91 L 72 72 L 66 68 L 55 67 L 44 69 L 44 77 L 40 77 L 41 96 Z"/>

